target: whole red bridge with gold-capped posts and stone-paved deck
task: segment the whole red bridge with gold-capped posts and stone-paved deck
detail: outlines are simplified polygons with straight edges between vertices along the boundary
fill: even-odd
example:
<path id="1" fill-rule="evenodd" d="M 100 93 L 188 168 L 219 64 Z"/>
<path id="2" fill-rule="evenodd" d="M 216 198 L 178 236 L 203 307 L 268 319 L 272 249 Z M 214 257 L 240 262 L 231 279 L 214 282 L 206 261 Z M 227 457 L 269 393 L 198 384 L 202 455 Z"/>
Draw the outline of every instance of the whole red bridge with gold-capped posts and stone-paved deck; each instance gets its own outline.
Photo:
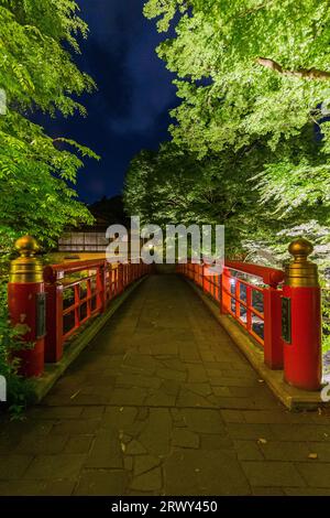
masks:
<path id="1" fill-rule="evenodd" d="M 324 487 L 315 473 L 329 466 L 327 409 L 288 411 L 322 403 L 307 241 L 290 246 L 286 271 L 228 261 L 216 276 L 193 263 L 169 274 L 103 260 L 43 267 L 32 239 L 19 248 L 9 304 L 35 343 L 16 355 L 40 402 L 28 428 L 4 422 L 3 494 Z"/>

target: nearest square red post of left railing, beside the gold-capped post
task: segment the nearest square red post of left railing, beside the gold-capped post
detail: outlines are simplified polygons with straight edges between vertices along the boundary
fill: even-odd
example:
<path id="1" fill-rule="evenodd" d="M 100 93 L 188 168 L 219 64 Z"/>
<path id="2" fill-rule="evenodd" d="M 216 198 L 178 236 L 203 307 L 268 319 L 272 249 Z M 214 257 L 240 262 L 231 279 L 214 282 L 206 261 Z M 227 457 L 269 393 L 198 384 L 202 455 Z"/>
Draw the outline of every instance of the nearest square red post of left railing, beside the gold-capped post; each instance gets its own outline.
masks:
<path id="1" fill-rule="evenodd" d="M 63 285 L 51 267 L 44 270 L 46 291 L 45 361 L 55 364 L 63 356 Z"/>

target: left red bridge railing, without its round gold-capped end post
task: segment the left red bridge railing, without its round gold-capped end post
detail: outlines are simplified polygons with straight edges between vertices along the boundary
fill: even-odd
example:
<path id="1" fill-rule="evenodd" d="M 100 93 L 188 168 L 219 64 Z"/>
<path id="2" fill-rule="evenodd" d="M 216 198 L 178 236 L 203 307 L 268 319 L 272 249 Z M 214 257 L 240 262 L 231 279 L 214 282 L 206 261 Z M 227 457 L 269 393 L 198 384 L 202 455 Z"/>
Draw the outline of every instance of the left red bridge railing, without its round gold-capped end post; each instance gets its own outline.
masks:
<path id="1" fill-rule="evenodd" d="M 142 263 L 108 263 L 105 259 L 45 267 L 45 360 L 58 361 L 63 356 L 65 342 L 90 319 L 105 312 L 116 296 L 150 273 L 150 266 Z M 82 273 L 85 271 L 87 274 Z M 79 272 L 81 276 L 78 279 L 66 281 L 69 276 Z M 68 293 L 66 299 L 65 293 Z"/>

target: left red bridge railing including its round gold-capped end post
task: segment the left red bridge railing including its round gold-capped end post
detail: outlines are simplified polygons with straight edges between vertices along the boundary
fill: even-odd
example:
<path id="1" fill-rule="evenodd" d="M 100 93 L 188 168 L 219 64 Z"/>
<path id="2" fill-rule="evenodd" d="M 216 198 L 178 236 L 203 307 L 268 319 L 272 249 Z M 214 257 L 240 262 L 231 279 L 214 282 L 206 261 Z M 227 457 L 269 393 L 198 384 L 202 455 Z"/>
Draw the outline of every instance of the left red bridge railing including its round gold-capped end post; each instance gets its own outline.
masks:
<path id="1" fill-rule="evenodd" d="M 8 303 L 12 324 L 23 324 L 22 339 L 33 345 L 14 354 L 25 377 L 40 376 L 45 363 L 59 361 L 75 333 L 151 272 L 141 261 L 120 265 L 106 259 L 44 267 L 30 236 L 19 239 L 16 248 L 20 257 L 11 263 Z"/>

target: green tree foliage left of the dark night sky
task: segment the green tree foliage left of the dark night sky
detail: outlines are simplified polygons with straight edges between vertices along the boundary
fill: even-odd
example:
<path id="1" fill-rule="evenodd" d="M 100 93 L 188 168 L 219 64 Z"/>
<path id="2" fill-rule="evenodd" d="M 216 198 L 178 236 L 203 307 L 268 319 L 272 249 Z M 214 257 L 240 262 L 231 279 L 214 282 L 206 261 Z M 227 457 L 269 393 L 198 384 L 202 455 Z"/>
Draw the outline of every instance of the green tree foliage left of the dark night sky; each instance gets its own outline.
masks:
<path id="1" fill-rule="evenodd" d="M 82 157 L 78 143 L 53 139 L 33 115 L 85 115 L 77 101 L 95 88 L 76 66 L 79 39 L 88 29 L 73 0 L 0 0 L 0 242 L 10 249 L 30 233 L 54 242 L 67 223 L 90 222 L 74 185 Z M 78 154 L 73 151 L 78 151 Z"/>

